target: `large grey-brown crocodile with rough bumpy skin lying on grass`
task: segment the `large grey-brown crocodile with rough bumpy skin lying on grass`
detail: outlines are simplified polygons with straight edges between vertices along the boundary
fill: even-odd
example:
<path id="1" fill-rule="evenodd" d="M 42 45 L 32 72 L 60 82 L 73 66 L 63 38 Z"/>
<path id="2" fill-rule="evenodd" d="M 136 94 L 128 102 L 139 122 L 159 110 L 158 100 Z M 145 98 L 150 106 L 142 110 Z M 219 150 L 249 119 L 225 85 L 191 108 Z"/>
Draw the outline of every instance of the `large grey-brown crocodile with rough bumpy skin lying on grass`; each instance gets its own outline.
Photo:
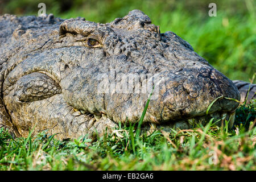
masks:
<path id="1" fill-rule="evenodd" d="M 133 90 L 150 79 L 159 94 L 144 123 L 171 126 L 204 117 L 217 97 L 240 100 L 231 80 L 173 32 L 161 34 L 139 10 L 106 24 L 3 15 L 0 42 L 1 122 L 16 135 L 26 136 L 35 126 L 35 133 L 48 129 L 60 139 L 77 138 L 95 129 L 101 134 L 118 122 L 137 122 L 148 93 Z M 116 87 L 98 92 L 102 75 L 121 86 L 122 75 L 149 73 L 162 81 L 146 76 L 135 80 L 129 93 L 113 92 Z M 237 106 L 220 99 L 210 113 L 220 117 Z"/>

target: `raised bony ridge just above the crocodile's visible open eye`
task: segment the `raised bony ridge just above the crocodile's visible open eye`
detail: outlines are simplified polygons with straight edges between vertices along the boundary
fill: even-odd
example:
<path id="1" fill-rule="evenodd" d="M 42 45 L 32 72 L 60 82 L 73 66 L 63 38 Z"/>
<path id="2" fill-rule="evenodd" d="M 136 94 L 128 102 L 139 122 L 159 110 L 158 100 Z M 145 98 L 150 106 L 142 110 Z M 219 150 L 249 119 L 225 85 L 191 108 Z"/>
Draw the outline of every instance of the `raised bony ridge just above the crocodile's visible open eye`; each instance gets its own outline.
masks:
<path id="1" fill-rule="evenodd" d="M 89 22 L 84 19 L 68 19 L 60 24 L 59 35 L 65 36 L 65 34 L 81 34 L 82 36 L 88 36 L 94 32 L 97 28 L 97 23 Z"/>

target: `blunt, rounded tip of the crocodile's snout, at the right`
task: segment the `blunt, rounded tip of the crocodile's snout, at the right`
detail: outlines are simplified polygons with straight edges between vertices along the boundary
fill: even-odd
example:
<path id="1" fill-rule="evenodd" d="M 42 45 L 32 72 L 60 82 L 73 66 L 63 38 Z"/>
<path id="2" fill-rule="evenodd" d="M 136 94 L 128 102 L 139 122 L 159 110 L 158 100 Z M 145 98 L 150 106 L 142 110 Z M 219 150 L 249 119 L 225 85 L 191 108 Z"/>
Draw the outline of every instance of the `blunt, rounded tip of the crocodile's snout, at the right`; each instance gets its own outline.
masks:
<path id="1" fill-rule="evenodd" d="M 168 85 L 159 86 L 163 93 L 159 96 L 159 104 L 163 101 L 163 121 L 204 116 L 208 106 L 221 96 L 240 100 L 240 94 L 232 81 L 207 66 L 200 69 L 184 68 L 178 76 L 169 77 L 162 85 Z M 237 106 L 235 101 L 219 99 L 214 102 L 209 113 L 232 112 Z"/>

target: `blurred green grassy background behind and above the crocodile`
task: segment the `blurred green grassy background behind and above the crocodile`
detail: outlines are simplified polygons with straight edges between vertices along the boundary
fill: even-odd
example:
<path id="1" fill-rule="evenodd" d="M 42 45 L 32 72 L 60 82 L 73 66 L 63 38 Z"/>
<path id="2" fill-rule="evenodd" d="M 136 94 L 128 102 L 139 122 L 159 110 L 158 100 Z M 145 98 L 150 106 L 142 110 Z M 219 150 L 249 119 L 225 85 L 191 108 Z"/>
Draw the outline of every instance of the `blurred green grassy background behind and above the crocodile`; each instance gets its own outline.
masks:
<path id="1" fill-rule="evenodd" d="M 232 80 L 249 81 L 256 71 L 256 17 L 253 0 L 0 0 L 0 14 L 37 15 L 38 3 L 60 18 L 85 17 L 106 23 L 140 9 L 159 25 L 187 40 L 200 56 Z M 217 5 L 210 17 L 209 3 Z"/>

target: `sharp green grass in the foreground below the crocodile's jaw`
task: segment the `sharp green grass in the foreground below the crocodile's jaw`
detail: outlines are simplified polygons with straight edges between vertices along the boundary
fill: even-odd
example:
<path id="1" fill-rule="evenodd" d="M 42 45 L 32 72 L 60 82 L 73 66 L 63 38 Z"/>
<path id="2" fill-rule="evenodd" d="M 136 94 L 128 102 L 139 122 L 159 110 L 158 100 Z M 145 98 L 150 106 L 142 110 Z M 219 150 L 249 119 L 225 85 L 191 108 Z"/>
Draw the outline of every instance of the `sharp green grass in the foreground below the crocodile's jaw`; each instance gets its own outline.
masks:
<path id="1" fill-rule="evenodd" d="M 0 170 L 256 170 L 256 102 L 241 105 L 233 129 L 197 126 L 135 137 L 134 125 L 92 142 L 46 131 L 13 138 L 0 129 Z"/>

